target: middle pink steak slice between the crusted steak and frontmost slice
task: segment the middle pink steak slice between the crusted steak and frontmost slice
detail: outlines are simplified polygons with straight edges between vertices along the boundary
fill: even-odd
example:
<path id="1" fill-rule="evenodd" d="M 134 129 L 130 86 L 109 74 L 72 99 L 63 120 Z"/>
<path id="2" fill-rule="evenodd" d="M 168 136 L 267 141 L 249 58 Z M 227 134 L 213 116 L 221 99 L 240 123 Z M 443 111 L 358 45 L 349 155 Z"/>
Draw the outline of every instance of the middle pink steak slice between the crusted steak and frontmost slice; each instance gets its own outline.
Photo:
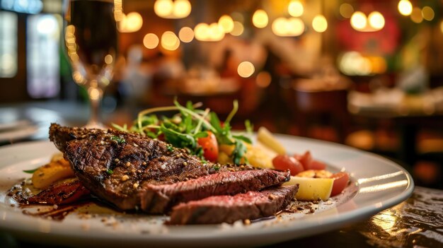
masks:
<path id="1" fill-rule="evenodd" d="M 288 180 L 289 172 L 275 170 L 220 172 L 175 184 L 146 184 L 142 187 L 144 191 L 140 193 L 140 198 L 143 211 L 165 213 L 171 206 L 181 202 L 258 191 Z"/>

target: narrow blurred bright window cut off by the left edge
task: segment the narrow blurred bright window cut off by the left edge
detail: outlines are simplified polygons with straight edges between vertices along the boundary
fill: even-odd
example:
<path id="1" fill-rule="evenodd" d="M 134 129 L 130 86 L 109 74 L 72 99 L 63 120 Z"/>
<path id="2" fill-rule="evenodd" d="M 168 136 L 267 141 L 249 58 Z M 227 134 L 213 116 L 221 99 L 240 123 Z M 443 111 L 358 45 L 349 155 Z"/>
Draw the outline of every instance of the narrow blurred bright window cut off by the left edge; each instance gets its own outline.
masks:
<path id="1" fill-rule="evenodd" d="M 0 78 L 17 73 L 17 14 L 0 11 Z"/>

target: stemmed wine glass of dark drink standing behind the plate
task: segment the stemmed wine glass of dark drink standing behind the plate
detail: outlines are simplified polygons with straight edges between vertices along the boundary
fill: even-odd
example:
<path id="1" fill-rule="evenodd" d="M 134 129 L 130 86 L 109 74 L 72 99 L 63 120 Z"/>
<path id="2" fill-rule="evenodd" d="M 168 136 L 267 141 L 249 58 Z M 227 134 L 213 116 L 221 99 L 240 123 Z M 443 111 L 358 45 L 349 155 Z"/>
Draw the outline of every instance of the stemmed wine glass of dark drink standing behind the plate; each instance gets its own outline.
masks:
<path id="1" fill-rule="evenodd" d="M 113 0 L 65 0 L 64 41 L 74 81 L 86 88 L 91 117 L 86 128 L 105 129 L 100 121 L 103 90 L 113 78 L 117 25 Z"/>

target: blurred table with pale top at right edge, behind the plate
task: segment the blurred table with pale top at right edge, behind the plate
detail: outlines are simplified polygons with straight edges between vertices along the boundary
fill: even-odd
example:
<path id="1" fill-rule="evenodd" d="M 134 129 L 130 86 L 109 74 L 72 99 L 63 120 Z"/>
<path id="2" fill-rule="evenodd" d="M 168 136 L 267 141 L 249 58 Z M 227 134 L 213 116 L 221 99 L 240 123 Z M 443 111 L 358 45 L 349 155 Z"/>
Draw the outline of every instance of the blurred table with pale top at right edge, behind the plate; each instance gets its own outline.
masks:
<path id="1" fill-rule="evenodd" d="M 351 92 L 348 109 L 356 117 L 393 120 L 400 139 L 398 158 L 411 167 L 418 159 L 420 128 L 442 130 L 443 88 L 423 95 L 405 95 L 396 89 L 379 93 Z"/>

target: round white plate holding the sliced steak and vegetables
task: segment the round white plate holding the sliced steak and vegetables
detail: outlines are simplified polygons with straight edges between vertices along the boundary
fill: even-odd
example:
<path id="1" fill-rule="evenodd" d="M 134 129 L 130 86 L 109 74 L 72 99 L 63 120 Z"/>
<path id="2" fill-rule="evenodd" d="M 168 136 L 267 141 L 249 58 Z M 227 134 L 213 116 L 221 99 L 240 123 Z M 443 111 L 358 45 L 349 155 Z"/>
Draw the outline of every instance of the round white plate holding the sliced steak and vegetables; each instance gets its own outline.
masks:
<path id="1" fill-rule="evenodd" d="M 0 148 L 0 230 L 28 242 L 94 247 L 222 247 L 258 246 L 315 235 L 369 218 L 385 208 L 401 203 L 413 191 L 413 180 L 403 167 L 377 155 L 294 136 L 278 136 L 289 153 L 311 150 L 329 170 L 346 170 L 352 184 L 332 205 L 321 205 L 313 214 L 285 213 L 282 218 L 251 225 L 163 225 L 166 216 L 122 215 L 109 218 L 99 213 L 79 218 L 77 213 L 62 221 L 24 215 L 11 206 L 5 191 L 29 174 L 22 172 L 46 163 L 57 152 L 47 141 L 21 143 Z M 105 210 L 105 208 L 103 208 Z M 102 209 L 102 210 L 103 210 Z M 91 210 L 90 213 L 96 213 Z M 105 222 L 103 222 L 105 218 Z M 113 221 L 116 220 L 116 221 Z"/>

